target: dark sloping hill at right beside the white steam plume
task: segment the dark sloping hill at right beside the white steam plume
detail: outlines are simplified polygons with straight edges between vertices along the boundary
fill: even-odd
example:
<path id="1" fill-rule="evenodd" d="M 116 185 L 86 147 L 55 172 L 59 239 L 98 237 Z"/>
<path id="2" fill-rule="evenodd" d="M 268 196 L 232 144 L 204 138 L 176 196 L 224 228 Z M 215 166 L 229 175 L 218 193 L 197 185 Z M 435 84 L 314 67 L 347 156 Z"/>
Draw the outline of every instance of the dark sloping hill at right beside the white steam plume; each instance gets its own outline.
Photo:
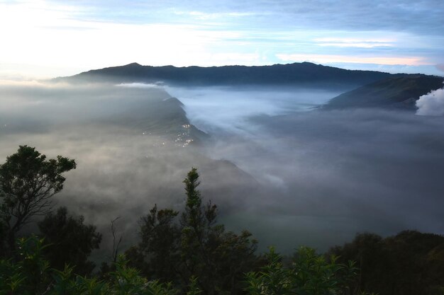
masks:
<path id="1" fill-rule="evenodd" d="M 443 77 L 423 74 L 394 76 L 332 98 L 321 109 L 396 108 L 416 110 L 420 96 L 442 88 Z"/>

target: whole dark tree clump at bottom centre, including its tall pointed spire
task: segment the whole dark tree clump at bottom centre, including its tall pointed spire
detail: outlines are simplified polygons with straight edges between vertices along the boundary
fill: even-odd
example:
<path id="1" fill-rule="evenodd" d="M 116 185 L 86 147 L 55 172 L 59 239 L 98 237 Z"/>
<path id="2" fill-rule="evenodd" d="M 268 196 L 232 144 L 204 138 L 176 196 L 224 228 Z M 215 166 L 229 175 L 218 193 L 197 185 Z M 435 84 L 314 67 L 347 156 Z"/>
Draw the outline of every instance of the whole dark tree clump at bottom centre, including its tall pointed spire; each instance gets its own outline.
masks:
<path id="1" fill-rule="evenodd" d="M 187 200 L 180 221 L 179 212 L 153 207 L 140 221 L 140 245 L 126 254 L 148 277 L 182 290 L 191 281 L 202 294 L 240 294 L 244 273 L 257 263 L 257 241 L 248 231 L 235 234 L 217 224 L 217 207 L 202 204 L 199 184 L 192 168 L 184 180 Z"/>

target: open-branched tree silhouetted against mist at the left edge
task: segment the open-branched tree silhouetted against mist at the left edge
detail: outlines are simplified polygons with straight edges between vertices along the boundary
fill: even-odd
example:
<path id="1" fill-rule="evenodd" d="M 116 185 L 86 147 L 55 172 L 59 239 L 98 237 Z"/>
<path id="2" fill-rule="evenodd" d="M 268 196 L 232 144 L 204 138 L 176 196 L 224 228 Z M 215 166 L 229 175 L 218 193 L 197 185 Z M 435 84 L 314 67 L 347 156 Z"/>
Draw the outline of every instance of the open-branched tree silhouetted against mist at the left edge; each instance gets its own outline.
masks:
<path id="1" fill-rule="evenodd" d="M 9 250 L 15 248 L 16 234 L 30 218 L 44 215 L 52 207 L 51 197 L 65 183 L 62 173 L 74 168 L 74 160 L 62 156 L 47 160 L 30 146 L 19 146 L 0 165 L 0 220 Z"/>

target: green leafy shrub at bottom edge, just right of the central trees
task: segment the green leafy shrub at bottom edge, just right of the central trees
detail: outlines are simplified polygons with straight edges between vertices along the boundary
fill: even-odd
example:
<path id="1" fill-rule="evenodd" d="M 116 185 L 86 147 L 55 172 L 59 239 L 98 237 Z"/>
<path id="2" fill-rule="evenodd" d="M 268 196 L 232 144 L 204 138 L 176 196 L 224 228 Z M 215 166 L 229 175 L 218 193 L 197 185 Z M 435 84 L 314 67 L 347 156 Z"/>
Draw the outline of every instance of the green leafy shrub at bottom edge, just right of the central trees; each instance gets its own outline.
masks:
<path id="1" fill-rule="evenodd" d="M 347 280 L 355 277 L 357 268 L 326 260 L 311 248 L 301 247 L 292 265 L 284 267 L 282 256 L 270 248 L 269 263 L 260 272 L 248 272 L 246 291 L 250 295 L 348 294 Z"/>

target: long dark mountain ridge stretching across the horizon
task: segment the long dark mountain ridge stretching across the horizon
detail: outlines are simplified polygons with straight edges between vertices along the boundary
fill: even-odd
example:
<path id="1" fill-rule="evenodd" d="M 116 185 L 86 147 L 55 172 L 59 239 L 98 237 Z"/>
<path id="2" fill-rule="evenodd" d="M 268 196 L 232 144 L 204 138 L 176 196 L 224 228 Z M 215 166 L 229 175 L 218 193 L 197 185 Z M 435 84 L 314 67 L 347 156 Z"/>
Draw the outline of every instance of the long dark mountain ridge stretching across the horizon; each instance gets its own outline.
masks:
<path id="1" fill-rule="evenodd" d="M 113 83 L 170 83 L 192 86 L 302 86 L 351 89 L 386 79 L 392 74 L 322 66 L 309 62 L 272 66 L 142 66 L 137 63 L 85 71 L 53 81 Z"/>

